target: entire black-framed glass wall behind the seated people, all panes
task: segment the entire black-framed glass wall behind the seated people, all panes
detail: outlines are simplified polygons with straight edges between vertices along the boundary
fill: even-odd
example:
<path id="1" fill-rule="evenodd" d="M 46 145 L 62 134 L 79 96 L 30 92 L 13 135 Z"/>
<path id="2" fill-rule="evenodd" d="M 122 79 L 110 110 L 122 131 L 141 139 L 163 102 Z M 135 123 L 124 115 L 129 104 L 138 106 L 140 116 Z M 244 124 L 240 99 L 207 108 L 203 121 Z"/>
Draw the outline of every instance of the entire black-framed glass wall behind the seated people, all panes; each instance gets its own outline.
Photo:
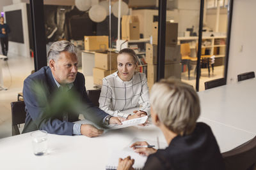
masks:
<path id="1" fill-rule="evenodd" d="M 60 39 L 75 43 L 86 88 L 97 89 L 102 86 L 102 78 L 117 70 L 117 53 L 132 48 L 139 58 L 138 71 L 146 74 L 150 89 L 157 81 L 159 1 L 45 4 L 47 49 Z M 228 0 L 204 1 L 202 46 L 198 46 L 201 0 L 166 1 L 165 78 L 179 78 L 196 89 L 198 72 L 200 91 L 205 81 L 224 77 L 228 4 Z"/>

